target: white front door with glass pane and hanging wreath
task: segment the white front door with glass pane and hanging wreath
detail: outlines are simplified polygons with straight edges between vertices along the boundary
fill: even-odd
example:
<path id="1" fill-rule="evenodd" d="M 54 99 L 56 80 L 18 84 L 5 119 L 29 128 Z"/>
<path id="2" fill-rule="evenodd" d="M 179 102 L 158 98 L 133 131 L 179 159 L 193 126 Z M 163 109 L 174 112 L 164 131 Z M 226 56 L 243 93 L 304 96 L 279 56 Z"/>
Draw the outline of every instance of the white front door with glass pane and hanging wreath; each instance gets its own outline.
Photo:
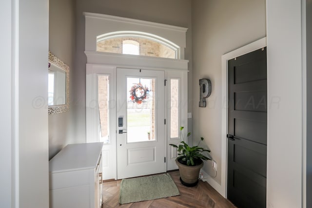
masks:
<path id="1" fill-rule="evenodd" d="M 117 179 L 165 171 L 164 79 L 117 68 Z"/>

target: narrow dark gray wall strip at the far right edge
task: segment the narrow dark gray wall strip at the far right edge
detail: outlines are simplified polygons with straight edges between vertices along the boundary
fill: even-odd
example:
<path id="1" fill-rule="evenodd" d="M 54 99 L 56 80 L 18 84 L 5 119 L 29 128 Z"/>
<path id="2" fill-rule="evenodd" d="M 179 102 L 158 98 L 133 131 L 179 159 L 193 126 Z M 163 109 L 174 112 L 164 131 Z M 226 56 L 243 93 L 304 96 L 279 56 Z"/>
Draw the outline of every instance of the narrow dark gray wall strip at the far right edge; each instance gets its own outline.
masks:
<path id="1" fill-rule="evenodd" d="M 312 207 L 312 0 L 307 6 L 307 208 Z"/>

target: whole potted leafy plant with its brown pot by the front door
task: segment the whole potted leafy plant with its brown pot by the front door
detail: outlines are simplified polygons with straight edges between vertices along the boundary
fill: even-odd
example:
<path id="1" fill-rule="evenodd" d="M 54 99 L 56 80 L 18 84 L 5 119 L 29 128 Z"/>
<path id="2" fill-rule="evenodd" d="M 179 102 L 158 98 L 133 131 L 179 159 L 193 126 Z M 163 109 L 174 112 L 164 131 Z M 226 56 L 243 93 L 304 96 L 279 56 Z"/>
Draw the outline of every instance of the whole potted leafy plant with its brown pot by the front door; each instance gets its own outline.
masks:
<path id="1" fill-rule="evenodd" d="M 180 171 L 180 181 L 184 186 L 193 187 L 198 183 L 198 175 L 200 169 L 204 166 L 204 161 L 212 160 L 210 150 L 199 147 L 199 143 L 204 140 L 200 137 L 198 145 L 190 147 L 184 141 L 183 137 L 184 127 L 180 127 L 180 134 L 182 141 L 179 145 L 170 144 L 177 149 L 176 165 Z M 191 135 L 191 132 L 187 134 L 187 137 Z M 203 153 L 205 152 L 206 155 Z"/>

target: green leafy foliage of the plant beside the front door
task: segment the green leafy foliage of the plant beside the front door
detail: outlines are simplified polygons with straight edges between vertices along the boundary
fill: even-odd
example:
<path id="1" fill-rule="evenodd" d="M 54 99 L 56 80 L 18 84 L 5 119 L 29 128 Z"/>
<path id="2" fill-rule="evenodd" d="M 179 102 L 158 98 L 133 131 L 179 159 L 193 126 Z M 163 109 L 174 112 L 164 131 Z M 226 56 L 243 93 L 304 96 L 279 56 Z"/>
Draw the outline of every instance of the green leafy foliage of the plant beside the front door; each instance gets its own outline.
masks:
<path id="1" fill-rule="evenodd" d="M 202 147 L 199 147 L 199 144 L 202 140 L 204 140 L 203 137 L 200 137 L 200 140 L 198 144 L 194 147 L 190 147 L 186 142 L 184 141 L 183 137 L 183 129 L 184 127 L 180 127 L 180 134 L 182 137 L 182 141 L 179 145 L 170 144 L 171 146 L 175 147 L 177 149 L 177 160 L 187 166 L 195 166 L 202 163 L 202 161 L 212 160 L 212 156 L 210 155 L 209 149 L 204 149 Z M 191 135 L 191 132 L 188 132 L 187 137 Z M 205 153 L 204 153 L 205 152 Z M 206 155 L 204 155 L 204 154 Z"/>

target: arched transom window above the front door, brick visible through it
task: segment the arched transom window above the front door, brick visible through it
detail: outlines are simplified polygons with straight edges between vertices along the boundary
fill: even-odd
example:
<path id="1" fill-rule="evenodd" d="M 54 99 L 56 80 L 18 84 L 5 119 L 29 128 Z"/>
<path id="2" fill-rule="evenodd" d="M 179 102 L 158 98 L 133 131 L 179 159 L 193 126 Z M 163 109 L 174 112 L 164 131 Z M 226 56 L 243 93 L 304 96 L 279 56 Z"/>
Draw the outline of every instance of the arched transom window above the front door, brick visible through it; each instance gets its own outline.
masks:
<path id="1" fill-rule="evenodd" d="M 98 52 L 178 58 L 178 49 L 173 43 L 140 34 L 106 34 L 97 38 Z"/>

